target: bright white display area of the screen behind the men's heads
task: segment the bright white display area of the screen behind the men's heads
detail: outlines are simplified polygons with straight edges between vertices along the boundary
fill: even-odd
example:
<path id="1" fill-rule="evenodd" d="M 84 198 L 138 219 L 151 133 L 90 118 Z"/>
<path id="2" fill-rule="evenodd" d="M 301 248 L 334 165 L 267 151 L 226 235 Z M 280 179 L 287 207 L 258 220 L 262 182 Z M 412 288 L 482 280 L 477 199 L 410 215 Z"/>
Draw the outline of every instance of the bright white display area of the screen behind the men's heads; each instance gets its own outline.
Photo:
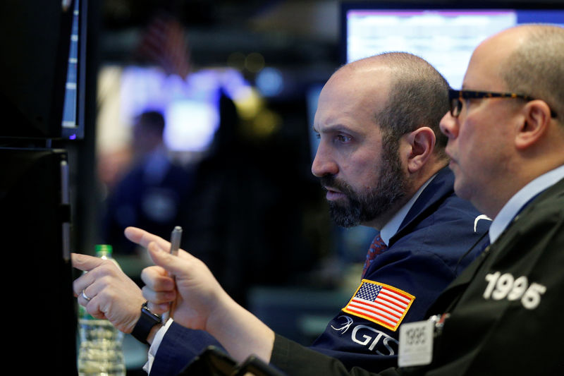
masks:
<path id="1" fill-rule="evenodd" d="M 460 87 L 472 51 L 517 23 L 515 11 L 349 11 L 347 62 L 389 51 L 429 61 Z"/>

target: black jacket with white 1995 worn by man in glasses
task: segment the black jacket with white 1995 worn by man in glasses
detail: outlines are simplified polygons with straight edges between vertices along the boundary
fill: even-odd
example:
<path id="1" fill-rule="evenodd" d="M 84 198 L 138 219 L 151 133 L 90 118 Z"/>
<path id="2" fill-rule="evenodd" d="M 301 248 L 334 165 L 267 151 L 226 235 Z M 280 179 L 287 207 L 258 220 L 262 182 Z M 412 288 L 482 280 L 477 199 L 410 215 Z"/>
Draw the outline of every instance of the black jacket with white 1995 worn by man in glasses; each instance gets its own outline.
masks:
<path id="1" fill-rule="evenodd" d="M 535 198 L 429 315 L 449 313 L 431 365 L 381 375 L 557 375 L 564 368 L 564 180 Z M 371 375 L 276 337 L 271 365 L 288 375 Z M 375 374 L 372 374 L 375 375 Z"/>

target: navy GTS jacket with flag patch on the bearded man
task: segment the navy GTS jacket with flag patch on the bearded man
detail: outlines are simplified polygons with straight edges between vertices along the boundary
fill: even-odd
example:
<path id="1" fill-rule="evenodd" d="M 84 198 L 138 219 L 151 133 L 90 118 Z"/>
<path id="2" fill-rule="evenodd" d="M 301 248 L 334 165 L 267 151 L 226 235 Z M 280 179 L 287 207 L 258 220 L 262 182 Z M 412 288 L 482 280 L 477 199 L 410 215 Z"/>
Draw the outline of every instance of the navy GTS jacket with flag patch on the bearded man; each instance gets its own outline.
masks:
<path id="1" fill-rule="evenodd" d="M 453 183 L 448 167 L 441 169 L 353 294 L 378 304 L 388 293 L 386 303 L 391 307 L 386 309 L 391 308 L 392 322 L 390 316 L 357 313 L 353 296 L 343 302 L 343 310 L 312 349 L 338 358 L 347 368 L 357 365 L 374 372 L 397 365 L 398 326 L 424 320 L 439 293 L 482 250 L 477 243 L 491 223 L 470 202 L 456 197 Z M 209 334 L 173 324 L 159 346 L 150 375 L 176 375 L 210 344 L 219 345 Z"/>

